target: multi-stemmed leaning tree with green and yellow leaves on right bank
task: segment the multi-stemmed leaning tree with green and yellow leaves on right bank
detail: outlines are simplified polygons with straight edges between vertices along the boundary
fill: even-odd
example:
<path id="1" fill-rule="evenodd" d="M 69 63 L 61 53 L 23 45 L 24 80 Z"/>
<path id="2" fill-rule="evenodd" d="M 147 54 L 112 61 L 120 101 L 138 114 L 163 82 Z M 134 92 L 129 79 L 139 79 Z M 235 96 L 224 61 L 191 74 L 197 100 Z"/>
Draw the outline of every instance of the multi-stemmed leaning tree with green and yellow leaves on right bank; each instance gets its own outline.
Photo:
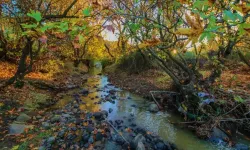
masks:
<path id="1" fill-rule="evenodd" d="M 199 111 L 198 91 L 209 90 L 220 76 L 221 58 L 226 58 L 240 38 L 248 34 L 249 3 L 244 1 L 118 1 L 116 8 L 116 14 L 123 16 L 120 20 L 128 27 L 129 38 L 158 60 L 191 112 Z M 216 67 L 203 79 L 197 63 L 201 51 L 209 49 L 199 45 L 208 47 L 211 43 L 218 53 Z M 194 63 L 188 63 L 185 57 L 188 47 L 194 49 Z"/>

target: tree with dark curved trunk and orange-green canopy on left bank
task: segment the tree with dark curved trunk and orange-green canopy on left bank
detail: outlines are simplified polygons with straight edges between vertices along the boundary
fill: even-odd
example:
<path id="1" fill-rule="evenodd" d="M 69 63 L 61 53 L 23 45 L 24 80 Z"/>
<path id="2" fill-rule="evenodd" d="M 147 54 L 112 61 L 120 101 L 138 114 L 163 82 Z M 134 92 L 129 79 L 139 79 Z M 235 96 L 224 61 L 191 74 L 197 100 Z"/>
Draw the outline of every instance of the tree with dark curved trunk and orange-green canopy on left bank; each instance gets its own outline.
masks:
<path id="1" fill-rule="evenodd" d="M 100 4 L 78 0 L 66 3 L 64 0 L 9 0 L 1 3 L 1 8 L 3 9 L 1 15 L 9 15 L 9 18 L 19 24 L 21 38 L 23 38 L 22 42 L 25 43 L 21 48 L 22 54 L 17 72 L 7 82 L 6 85 L 8 85 L 22 80 L 26 74 L 32 71 L 33 59 L 39 54 L 41 45 L 46 44 L 48 36 L 59 36 L 59 38 L 70 36 L 70 39 L 73 40 L 79 37 L 80 35 L 77 33 L 79 31 L 81 33 L 83 30 L 85 32 L 84 36 L 88 36 L 91 32 L 90 29 L 94 28 L 90 26 L 91 22 L 89 20 L 91 18 L 101 20 L 99 10 L 107 9 L 108 7 L 107 2 Z M 91 11 L 92 9 L 97 11 Z M 30 10 L 32 11 L 30 12 Z M 67 34 L 69 36 L 65 36 Z M 33 50 L 35 45 L 38 45 L 36 52 Z M 75 46 L 74 48 L 77 47 Z M 76 53 L 77 49 L 75 49 Z M 27 64 L 28 62 L 29 64 Z"/>

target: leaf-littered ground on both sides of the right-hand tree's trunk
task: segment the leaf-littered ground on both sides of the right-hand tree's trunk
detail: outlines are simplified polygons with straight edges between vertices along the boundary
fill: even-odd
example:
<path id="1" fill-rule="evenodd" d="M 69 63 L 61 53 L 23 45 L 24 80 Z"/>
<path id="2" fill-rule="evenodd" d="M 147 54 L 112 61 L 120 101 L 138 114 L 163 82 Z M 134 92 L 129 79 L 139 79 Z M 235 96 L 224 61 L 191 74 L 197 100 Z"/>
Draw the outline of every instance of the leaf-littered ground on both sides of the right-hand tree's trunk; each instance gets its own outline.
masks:
<path id="1" fill-rule="evenodd" d="M 202 71 L 204 77 L 208 70 Z M 107 71 L 109 80 L 114 85 L 132 93 L 148 96 L 150 91 L 174 90 L 170 77 L 161 70 L 150 69 L 139 74 L 128 74 L 125 71 Z M 239 67 L 234 70 L 227 69 L 220 79 L 217 79 L 215 87 L 225 90 L 235 90 L 250 94 L 250 68 Z"/>

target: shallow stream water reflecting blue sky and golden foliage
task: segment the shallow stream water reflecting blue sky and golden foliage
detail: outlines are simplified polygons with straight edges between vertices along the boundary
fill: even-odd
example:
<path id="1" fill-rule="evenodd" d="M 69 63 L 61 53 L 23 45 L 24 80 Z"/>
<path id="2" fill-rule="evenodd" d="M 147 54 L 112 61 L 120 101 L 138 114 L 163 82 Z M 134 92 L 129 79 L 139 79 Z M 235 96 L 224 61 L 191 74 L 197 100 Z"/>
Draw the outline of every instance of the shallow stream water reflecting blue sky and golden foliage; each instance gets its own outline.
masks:
<path id="1" fill-rule="evenodd" d="M 80 105 L 81 110 L 97 112 L 100 110 L 110 111 L 108 120 L 115 121 L 117 119 L 124 120 L 124 124 L 129 126 L 131 122 L 129 116 L 135 116 L 133 122 L 154 134 L 159 135 L 163 140 L 174 143 L 178 149 L 183 150 L 214 150 L 214 149 L 232 149 L 221 145 L 215 145 L 211 142 L 198 139 L 194 133 L 187 129 L 177 127 L 170 122 L 183 121 L 179 115 L 169 112 L 151 113 L 148 111 L 149 105 L 152 104 L 149 100 L 123 91 L 108 82 L 108 77 L 100 75 L 101 66 L 90 70 L 90 77 L 84 84 L 82 89 L 88 90 L 89 93 L 81 96 L 84 104 Z M 60 100 L 54 108 L 61 108 L 72 101 L 74 93 L 82 91 L 76 89 L 69 91 L 66 96 Z M 112 96 L 110 93 L 114 92 Z M 241 143 L 249 145 L 244 140 L 239 140 Z"/>

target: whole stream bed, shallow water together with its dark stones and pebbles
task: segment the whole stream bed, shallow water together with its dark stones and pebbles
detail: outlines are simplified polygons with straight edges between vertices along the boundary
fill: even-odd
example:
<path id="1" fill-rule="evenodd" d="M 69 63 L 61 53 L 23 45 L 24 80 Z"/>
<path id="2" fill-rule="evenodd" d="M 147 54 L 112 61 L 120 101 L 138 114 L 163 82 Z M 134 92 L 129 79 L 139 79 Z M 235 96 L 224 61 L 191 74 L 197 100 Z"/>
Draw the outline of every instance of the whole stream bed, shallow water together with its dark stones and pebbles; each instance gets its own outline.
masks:
<path id="1" fill-rule="evenodd" d="M 101 75 L 97 65 L 79 88 L 65 91 L 49 109 L 27 118 L 30 130 L 21 134 L 17 149 L 248 149 L 244 140 L 231 148 L 219 138 L 198 139 L 171 122 L 183 119 L 171 112 L 152 113 L 152 105 L 138 95 L 123 91 Z M 21 114 L 19 115 L 21 116 Z M 36 123 L 35 123 L 36 122 Z M 136 141 L 136 142 L 134 142 Z M 128 144 L 129 143 L 129 144 Z M 2 145 L 0 145 L 2 146 Z M 8 148 L 7 148 L 8 149 Z"/>

